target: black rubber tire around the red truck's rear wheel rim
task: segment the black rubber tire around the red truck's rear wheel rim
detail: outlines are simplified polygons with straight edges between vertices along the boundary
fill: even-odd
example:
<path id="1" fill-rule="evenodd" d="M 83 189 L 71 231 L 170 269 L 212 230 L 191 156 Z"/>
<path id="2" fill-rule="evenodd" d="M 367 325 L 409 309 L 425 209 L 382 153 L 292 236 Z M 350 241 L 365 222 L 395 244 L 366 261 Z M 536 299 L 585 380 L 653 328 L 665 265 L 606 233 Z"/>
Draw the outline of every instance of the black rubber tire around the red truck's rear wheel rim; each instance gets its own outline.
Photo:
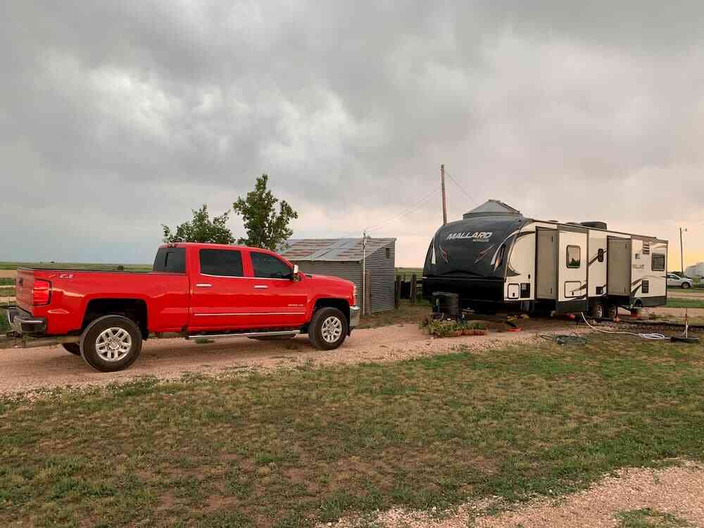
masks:
<path id="1" fill-rule="evenodd" d="M 99 353 L 97 348 L 98 343 L 96 341 L 108 329 L 122 330 L 129 335 L 129 348 L 126 353 L 125 351 L 116 351 L 122 357 L 114 360 L 106 360 L 101 357 L 101 353 Z M 125 334 L 118 332 L 118 335 L 124 338 Z M 116 372 L 125 370 L 139 357 L 139 353 L 142 351 L 142 332 L 131 319 L 121 315 L 105 315 L 88 325 L 81 335 L 80 345 L 81 356 L 88 365 L 99 372 Z"/>

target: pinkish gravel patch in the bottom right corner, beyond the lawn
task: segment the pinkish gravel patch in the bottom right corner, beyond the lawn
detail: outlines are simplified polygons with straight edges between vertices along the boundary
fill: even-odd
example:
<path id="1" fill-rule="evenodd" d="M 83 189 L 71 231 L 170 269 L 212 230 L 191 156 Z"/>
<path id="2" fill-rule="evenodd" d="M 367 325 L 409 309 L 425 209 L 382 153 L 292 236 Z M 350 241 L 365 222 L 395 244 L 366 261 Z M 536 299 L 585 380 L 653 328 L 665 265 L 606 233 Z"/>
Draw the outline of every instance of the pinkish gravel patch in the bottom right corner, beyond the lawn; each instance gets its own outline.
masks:
<path id="1" fill-rule="evenodd" d="M 494 498 L 462 505 L 447 517 L 394 509 L 379 514 L 374 522 L 383 528 L 602 528 L 617 527 L 620 513 L 650 508 L 704 527 L 703 497 L 704 467 L 684 462 L 662 470 L 620 470 L 586 491 L 516 505 L 500 515 L 486 513 L 497 504 Z M 352 528 L 360 520 L 344 519 L 335 525 Z"/>

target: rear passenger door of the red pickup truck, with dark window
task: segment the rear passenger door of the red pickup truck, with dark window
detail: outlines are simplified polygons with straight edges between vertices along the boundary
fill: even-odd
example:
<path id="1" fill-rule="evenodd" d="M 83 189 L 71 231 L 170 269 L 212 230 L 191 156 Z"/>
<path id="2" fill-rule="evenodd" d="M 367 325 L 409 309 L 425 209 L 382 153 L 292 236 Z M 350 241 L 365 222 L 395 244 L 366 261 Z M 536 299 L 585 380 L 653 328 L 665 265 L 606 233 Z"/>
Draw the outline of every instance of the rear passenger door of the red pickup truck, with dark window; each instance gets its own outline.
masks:
<path id="1" fill-rule="evenodd" d="M 229 330 L 256 327 L 253 278 L 246 276 L 246 251 L 206 249 L 191 263 L 189 329 Z"/>

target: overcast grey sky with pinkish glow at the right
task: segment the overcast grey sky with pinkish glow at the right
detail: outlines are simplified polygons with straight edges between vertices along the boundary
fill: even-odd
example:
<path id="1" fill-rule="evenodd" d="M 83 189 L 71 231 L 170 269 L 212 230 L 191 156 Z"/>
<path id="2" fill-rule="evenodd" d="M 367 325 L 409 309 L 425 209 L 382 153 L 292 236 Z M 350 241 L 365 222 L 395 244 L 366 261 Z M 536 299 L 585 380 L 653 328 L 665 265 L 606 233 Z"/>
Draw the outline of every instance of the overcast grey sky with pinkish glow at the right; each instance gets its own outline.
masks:
<path id="1" fill-rule="evenodd" d="M 296 237 L 501 199 L 704 260 L 704 3 L 0 3 L 0 260 L 151 262 L 262 172 Z M 241 222 L 232 217 L 232 230 Z"/>

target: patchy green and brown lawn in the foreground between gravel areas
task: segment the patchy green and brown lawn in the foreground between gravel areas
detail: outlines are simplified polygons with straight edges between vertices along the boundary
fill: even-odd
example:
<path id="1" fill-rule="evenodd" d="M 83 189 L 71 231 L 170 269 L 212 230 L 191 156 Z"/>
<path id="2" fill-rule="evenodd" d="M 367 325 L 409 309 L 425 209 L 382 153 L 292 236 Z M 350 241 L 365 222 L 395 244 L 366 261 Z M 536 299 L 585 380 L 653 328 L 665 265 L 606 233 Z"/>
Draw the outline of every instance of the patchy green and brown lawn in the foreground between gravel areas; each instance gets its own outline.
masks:
<path id="1" fill-rule="evenodd" d="M 0 401 L 0 525 L 301 527 L 702 460 L 704 346 L 588 339 Z"/>

